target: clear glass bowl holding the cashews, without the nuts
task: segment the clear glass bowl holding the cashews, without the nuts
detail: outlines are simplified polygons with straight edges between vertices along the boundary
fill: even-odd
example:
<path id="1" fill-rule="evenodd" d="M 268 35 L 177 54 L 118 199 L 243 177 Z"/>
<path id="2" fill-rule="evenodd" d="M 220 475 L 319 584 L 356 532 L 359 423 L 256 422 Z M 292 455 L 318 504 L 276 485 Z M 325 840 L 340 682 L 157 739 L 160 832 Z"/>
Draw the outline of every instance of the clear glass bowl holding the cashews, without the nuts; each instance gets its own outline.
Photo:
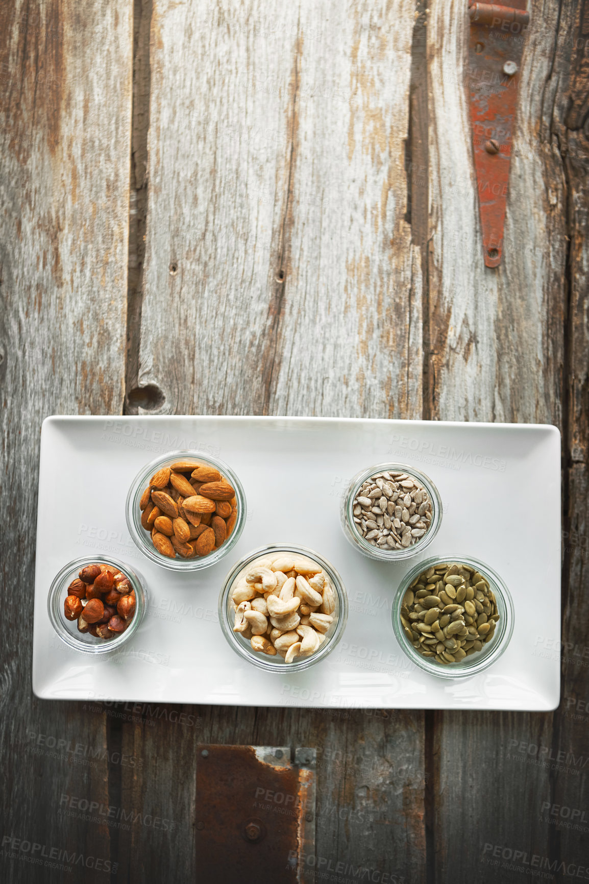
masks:
<path id="1" fill-rule="evenodd" d="M 254 560 L 264 556 L 268 562 L 271 562 L 272 560 L 278 559 L 282 554 L 289 555 L 291 553 L 316 561 L 317 565 L 319 565 L 329 577 L 335 591 L 334 614 L 337 614 L 337 619 L 325 633 L 325 642 L 321 644 L 318 651 L 312 653 L 309 657 L 296 657 L 292 663 L 287 663 L 279 654 L 275 657 L 270 657 L 264 653 L 253 651 L 249 639 L 242 638 L 241 634 L 233 632 L 235 613 L 232 607 L 231 591 L 233 589 L 233 583 L 235 583 L 237 578 L 241 578 L 241 576 L 245 574 Z M 302 672 L 303 669 L 315 666 L 320 660 L 325 659 L 340 641 L 348 619 L 348 595 L 341 582 L 341 577 L 335 568 L 333 568 L 333 565 L 322 556 L 318 555 L 317 552 L 307 549 L 306 546 L 294 546 L 289 544 L 260 546 L 259 549 L 249 552 L 247 556 L 244 556 L 243 559 L 238 561 L 227 575 L 225 585 L 218 598 L 218 619 L 221 624 L 221 629 L 223 629 L 223 634 L 226 637 L 227 642 L 233 648 L 233 651 L 239 654 L 241 658 L 248 660 L 249 663 L 252 663 L 258 669 L 264 669 L 265 672 L 276 672 L 282 675 L 287 672 Z"/>

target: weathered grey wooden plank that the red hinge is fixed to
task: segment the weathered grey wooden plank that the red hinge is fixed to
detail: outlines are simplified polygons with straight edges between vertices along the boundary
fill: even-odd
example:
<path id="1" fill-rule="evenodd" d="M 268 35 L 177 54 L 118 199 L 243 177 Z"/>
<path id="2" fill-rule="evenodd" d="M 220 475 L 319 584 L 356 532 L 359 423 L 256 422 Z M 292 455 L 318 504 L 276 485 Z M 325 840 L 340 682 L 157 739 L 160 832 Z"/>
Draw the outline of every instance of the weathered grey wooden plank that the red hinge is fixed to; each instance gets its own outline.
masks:
<path id="1" fill-rule="evenodd" d="M 562 402 L 571 194 L 558 133 L 569 106 L 573 7 L 578 14 L 580 4 L 533 4 L 503 263 L 497 271 L 483 264 L 463 86 L 464 6 L 431 4 L 429 19 L 431 413 L 444 419 L 556 423 L 566 431 Z M 581 225 L 579 217 L 578 240 Z M 577 316 L 580 324 L 580 309 Z M 581 353 L 586 347 L 582 337 Z M 566 397 L 564 402 L 566 409 Z M 581 519 L 580 501 L 576 506 Z M 581 585 L 571 583 L 569 592 L 578 604 Z M 579 637 L 574 629 L 573 634 Z M 557 629 L 553 639 L 556 643 Z M 570 842 L 567 853 L 565 836 L 555 836 L 546 812 L 539 819 L 543 803 L 555 802 L 558 794 L 575 796 L 577 804 L 571 806 L 583 806 L 571 789 L 578 783 L 576 772 L 558 766 L 570 751 L 581 753 L 580 731 L 571 728 L 566 734 L 561 720 L 562 707 L 554 716 L 436 713 L 433 789 L 439 880 L 448 874 L 456 880 L 518 880 L 516 866 L 524 867 L 524 857 L 529 863 L 533 854 L 543 857 L 536 864 L 561 858 L 583 863 L 579 844 Z M 521 853 L 514 865 L 516 851 Z"/>

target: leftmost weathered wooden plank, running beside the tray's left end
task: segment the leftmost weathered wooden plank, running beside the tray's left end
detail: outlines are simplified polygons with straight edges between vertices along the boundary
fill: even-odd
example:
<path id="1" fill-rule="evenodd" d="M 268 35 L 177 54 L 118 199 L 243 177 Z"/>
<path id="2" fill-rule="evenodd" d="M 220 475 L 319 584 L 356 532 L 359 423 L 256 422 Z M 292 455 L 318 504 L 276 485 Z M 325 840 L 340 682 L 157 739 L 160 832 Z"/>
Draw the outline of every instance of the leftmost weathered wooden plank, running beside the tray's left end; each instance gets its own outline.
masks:
<path id="1" fill-rule="evenodd" d="M 31 865 L 41 848 L 109 857 L 108 828 L 62 800 L 108 804 L 108 764 L 91 758 L 105 730 L 33 697 L 30 636 L 42 419 L 122 407 L 131 35 L 111 0 L 0 9 L 3 835 L 29 844 L 0 857 L 2 880 L 63 880 Z"/>

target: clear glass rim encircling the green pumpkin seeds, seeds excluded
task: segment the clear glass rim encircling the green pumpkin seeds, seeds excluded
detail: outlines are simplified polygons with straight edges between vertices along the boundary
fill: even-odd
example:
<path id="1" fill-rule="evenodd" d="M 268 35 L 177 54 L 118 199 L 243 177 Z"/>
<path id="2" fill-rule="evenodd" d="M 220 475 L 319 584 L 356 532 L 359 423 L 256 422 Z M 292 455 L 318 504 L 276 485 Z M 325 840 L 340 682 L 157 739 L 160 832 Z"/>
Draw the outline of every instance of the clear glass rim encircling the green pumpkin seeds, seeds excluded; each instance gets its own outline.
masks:
<path id="1" fill-rule="evenodd" d="M 491 589 L 495 593 L 495 596 L 499 597 L 501 600 L 501 604 L 505 609 L 505 613 L 502 618 L 502 630 L 501 633 L 497 636 L 497 639 L 491 644 L 489 651 L 482 655 L 480 659 L 475 658 L 475 662 L 465 665 L 463 660 L 457 661 L 455 663 L 448 663 L 447 667 L 443 667 L 440 663 L 431 663 L 430 658 L 424 657 L 422 654 L 417 653 L 416 649 L 409 644 L 409 640 L 402 629 L 401 623 L 401 604 L 402 598 L 405 595 L 405 592 L 409 589 L 409 584 L 412 580 L 417 577 L 417 575 L 425 570 L 426 568 L 431 568 L 432 565 L 441 564 L 443 562 L 456 564 L 464 564 L 469 566 L 475 566 L 480 574 L 486 576 L 490 579 L 490 583 L 493 585 Z M 481 570 L 482 568 L 482 570 Z M 499 606 L 498 606 L 499 607 Z M 411 660 L 412 663 L 415 663 L 417 667 L 422 669 L 423 671 L 434 675 L 437 678 L 446 678 L 446 679 L 456 679 L 456 678 L 470 678 L 473 675 L 478 675 L 483 672 L 486 668 L 490 667 L 495 660 L 501 657 L 501 654 L 507 650 L 509 642 L 511 641 L 511 636 L 513 635 L 513 629 L 515 624 L 515 609 L 513 604 L 513 598 L 511 593 L 509 592 L 509 588 L 503 578 L 491 568 L 490 565 L 487 565 L 485 561 L 478 559 L 476 556 L 471 555 L 459 555 L 459 556 L 448 556 L 448 555 L 432 555 L 427 559 L 421 560 L 417 562 L 412 568 L 409 569 L 406 575 L 402 577 L 401 582 L 397 588 L 397 591 L 394 595 L 393 606 L 391 609 L 391 620 L 393 625 L 394 636 L 397 639 L 397 642 L 401 645 L 402 651 L 405 653 L 407 657 Z M 475 655 L 472 655 L 473 658 Z M 470 658 L 463 658 L 470 659 Z"/>

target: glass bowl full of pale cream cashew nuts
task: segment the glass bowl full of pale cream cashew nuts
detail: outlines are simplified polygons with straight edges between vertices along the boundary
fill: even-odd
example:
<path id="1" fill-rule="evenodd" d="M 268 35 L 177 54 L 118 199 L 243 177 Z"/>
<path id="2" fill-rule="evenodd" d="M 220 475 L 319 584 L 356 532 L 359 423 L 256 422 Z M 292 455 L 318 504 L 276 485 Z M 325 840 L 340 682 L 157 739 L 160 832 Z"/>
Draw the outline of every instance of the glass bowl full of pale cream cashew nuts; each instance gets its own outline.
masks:
<path id="1" fill-rule="evenodd" d="M 266 671 L 301 670 L 340 641 L 348 597 L 333 565 L 302 546 L 263 546 L 238 561 L 218 602 L 233 651 Z"/>

